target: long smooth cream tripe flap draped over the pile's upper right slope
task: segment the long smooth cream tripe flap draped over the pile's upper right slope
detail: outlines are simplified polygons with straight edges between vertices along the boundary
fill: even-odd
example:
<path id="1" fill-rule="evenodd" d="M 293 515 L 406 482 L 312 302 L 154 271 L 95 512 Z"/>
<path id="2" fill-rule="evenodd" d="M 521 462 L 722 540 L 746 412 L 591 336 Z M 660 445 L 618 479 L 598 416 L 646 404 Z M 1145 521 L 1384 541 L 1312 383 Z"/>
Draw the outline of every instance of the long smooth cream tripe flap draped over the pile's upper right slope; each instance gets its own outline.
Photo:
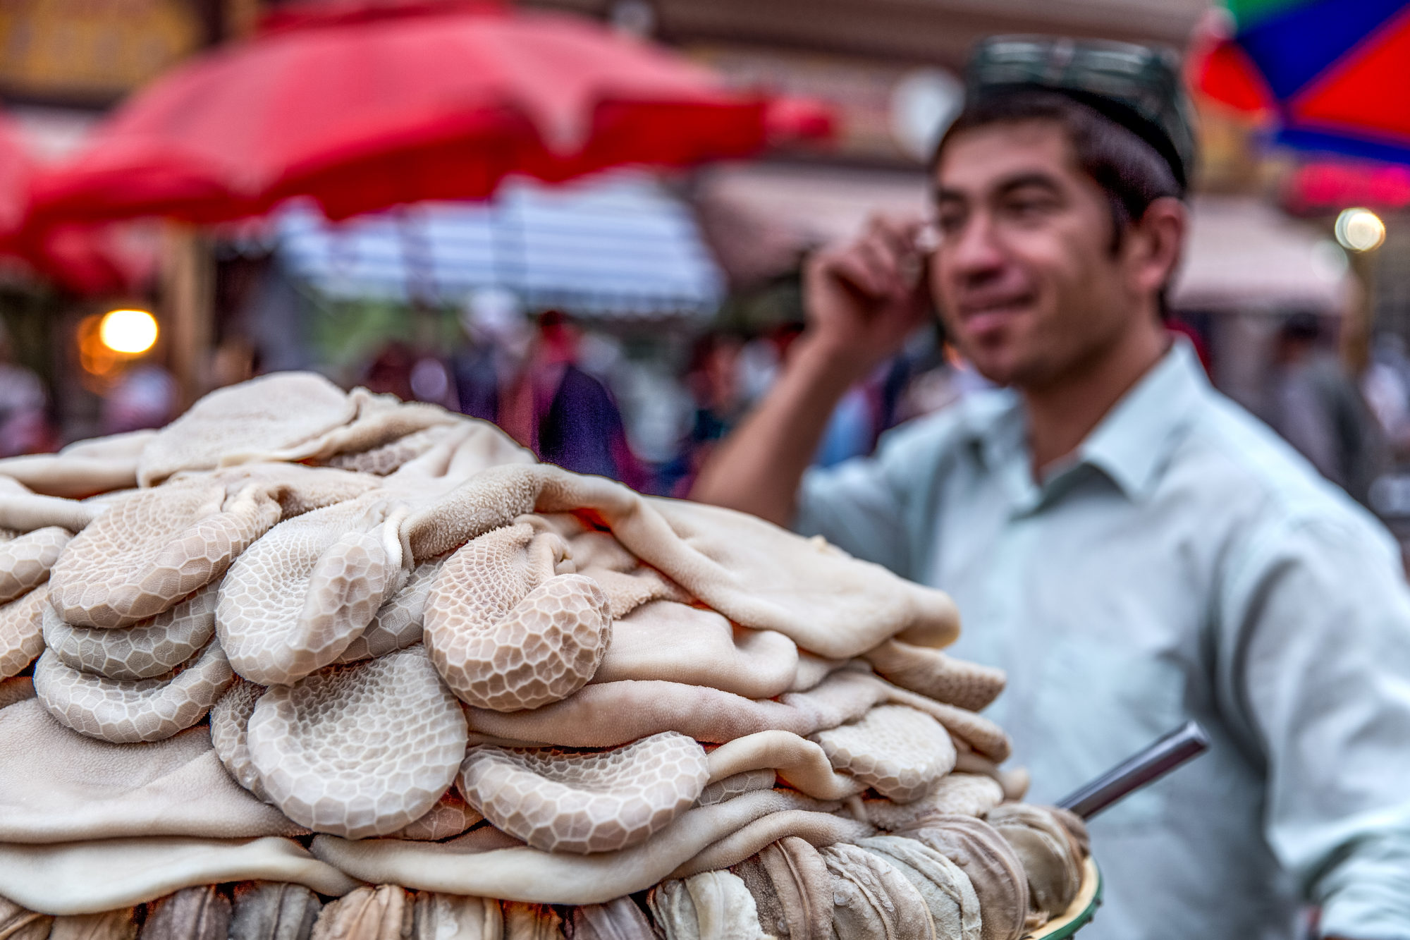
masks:
<path id="1" fill-rule="evenodd" d="M 816 541 L 718 507 L 649 500 L 602 477 L 547 464 L 491 467 L 403 526 L 417 558 L 525 512 L 592 518 L 642 562 L 730 621 L 776 629 L 801 649 L 856 656 L 883 639 L 940 646 L 959 617 L 940 591 Z"/>

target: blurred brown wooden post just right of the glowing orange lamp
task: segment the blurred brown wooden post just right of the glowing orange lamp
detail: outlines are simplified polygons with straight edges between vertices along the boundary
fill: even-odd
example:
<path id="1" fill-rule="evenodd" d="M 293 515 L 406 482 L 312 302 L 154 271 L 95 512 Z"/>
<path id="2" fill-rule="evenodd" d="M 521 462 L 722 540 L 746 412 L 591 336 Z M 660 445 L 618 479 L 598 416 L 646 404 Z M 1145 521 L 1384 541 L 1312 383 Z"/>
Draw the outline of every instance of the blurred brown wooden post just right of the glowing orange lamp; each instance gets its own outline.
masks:
<path id="1" fill-rule="evenodd" d="M 171 223 L 162 239 L 161 298 L 171 370 L 180 388 L 180 409 L 209 388 L 214 339 L 216 265 L 209 240 L 196 229 Z"/>

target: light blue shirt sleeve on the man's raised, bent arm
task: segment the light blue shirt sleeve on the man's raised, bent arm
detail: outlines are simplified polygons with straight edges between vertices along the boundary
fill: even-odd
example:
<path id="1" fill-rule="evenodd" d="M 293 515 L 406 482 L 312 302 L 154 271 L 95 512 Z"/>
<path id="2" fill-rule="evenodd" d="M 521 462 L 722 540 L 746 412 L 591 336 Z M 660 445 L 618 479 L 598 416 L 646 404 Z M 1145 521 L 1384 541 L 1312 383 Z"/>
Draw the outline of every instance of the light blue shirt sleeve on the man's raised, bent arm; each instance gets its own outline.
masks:
<path id="1" fill-rule="evenodd" d="M 939 414 L 887 435 L 870 457 L 804 474 L 792 529 L 821 535 L 854 558 L 921 580 L 933 538 L 933 497 L 957 418 Z"/>

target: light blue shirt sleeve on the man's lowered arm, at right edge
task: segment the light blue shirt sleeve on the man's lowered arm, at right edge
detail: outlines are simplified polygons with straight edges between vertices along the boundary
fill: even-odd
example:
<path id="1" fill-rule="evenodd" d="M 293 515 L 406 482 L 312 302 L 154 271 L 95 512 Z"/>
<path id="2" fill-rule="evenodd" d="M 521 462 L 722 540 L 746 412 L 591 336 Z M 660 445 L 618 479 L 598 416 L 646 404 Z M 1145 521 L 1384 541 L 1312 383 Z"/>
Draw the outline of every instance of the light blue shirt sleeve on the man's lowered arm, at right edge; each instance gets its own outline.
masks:
<path id="1" fill-rule="evenodd" d="M 1410 940 L 1410 591 L 1385 532 L 1345 517 L 1280 524 L 1235 567 L 1228 703 L 1323 936 Z"/>

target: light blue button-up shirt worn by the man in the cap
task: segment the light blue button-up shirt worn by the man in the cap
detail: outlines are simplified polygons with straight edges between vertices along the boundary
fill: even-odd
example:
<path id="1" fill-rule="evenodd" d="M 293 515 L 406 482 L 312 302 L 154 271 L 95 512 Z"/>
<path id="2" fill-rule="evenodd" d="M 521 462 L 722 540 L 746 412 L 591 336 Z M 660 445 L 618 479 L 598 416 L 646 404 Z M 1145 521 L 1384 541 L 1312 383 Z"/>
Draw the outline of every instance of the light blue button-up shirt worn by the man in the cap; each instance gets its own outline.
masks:
<path id="1" fill-rule="evenodd" d="M 1084 940 L 1410 940 L 1410 591 L 1385 529 L 1180 343 L 1035 483 L 979 392 L 809 471 L 797 526 L 949 591 L 1053 802 L 1187 718 L 1204 757 L 1091 821 Z"/>

